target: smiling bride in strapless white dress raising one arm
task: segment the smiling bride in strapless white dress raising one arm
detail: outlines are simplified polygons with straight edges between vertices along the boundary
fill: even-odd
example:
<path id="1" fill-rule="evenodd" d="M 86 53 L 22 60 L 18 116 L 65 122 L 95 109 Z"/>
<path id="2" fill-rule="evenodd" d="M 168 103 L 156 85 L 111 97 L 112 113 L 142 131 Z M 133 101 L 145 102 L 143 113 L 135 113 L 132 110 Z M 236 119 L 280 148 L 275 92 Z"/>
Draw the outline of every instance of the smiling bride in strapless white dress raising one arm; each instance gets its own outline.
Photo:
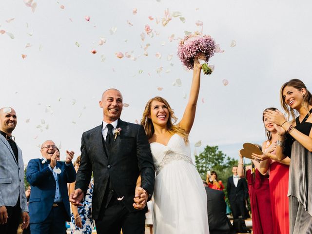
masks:
<path id="1" fill-rule="evenodd" d="M 199 59 L 205 59 L 199 56 Z M 207 195 L 191 159 L 188 135 L 199 93 L 201 65 L 194 62 L 190 98 L 179 123 L 169 103 L 155 97 L 141 124 L 151 144 L 156 170 L 152 207 L 155 234 L 209 234 Z"/>

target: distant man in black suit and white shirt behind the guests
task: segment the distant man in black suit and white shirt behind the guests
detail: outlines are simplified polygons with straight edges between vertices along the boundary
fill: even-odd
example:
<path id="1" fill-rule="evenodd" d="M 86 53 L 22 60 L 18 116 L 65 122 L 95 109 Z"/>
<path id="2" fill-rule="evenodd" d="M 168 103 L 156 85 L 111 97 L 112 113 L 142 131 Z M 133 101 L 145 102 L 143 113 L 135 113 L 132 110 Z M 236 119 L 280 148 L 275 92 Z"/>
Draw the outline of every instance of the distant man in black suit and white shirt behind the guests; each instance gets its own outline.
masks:
<path id="1" fill-rule="evenodd" d="M 232 167 L 233 176 L 228 178 L 227 191 L 232 209 L 233 218 L 236 219 L 242 215 L 247 218 L 245 209 L 245 200 L 248 198 L 248 186 L 246 179 L 240 179 L 237 175 L 237 166 Z"/>

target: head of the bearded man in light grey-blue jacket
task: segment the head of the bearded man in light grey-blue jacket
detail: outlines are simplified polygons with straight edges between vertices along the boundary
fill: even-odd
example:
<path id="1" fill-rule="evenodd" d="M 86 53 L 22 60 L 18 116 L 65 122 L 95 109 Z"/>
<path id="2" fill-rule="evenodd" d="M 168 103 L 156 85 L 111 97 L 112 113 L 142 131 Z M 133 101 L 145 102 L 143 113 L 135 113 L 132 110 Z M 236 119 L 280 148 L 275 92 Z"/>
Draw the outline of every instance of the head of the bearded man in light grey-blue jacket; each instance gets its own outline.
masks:
<path id="1" fill-rule="evenodd" d="M 11 136 L 17 122 L 16 112 L 12 107 L 2 107 L 0 109 L 0 131 Z"/>

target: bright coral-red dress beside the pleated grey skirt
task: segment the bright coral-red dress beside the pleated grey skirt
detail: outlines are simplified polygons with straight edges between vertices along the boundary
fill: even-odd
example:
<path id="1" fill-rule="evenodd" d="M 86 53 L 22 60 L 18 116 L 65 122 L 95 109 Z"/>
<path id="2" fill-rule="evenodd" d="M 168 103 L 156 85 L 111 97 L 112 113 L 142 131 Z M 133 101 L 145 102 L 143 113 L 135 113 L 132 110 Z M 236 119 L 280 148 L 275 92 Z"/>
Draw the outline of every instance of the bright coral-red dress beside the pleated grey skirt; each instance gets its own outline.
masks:
<path id="1" fill-rule="evenodd" d="M 274 234 L 289 234 L 288 203 L 289 166 L 279 162 L 270 164 L 270 196 Z"/>

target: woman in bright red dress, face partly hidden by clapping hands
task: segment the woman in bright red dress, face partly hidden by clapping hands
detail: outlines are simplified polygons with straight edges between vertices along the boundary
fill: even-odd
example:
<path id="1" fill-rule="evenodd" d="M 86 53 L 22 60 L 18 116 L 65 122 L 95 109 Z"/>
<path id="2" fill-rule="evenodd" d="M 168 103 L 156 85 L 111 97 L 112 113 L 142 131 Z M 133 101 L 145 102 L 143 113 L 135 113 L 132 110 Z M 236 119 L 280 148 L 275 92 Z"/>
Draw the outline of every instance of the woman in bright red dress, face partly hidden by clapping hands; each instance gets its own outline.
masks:
<path id="1" fill-rule="evenodd" d="M 276 108 L 268 108 L 267 110 L 275 111 Z M 266 135 L 268 140 L 262 144 L 264 154 L 262 156 L 254 155 L 254 159 L 261 160 L 259 171 L 262 174 L 270 175 L 270 197 L 271 209 L 273 217 L 274 234 L 289 234 L 289 202 L 287 197 L 288 192 L 288 177 L 290 158 L 278 161 L 275 156 L 275 148 L 277 141 L 277 131 L 273 126 L 273 122 L 268 121 L 262 116 Z"/>

